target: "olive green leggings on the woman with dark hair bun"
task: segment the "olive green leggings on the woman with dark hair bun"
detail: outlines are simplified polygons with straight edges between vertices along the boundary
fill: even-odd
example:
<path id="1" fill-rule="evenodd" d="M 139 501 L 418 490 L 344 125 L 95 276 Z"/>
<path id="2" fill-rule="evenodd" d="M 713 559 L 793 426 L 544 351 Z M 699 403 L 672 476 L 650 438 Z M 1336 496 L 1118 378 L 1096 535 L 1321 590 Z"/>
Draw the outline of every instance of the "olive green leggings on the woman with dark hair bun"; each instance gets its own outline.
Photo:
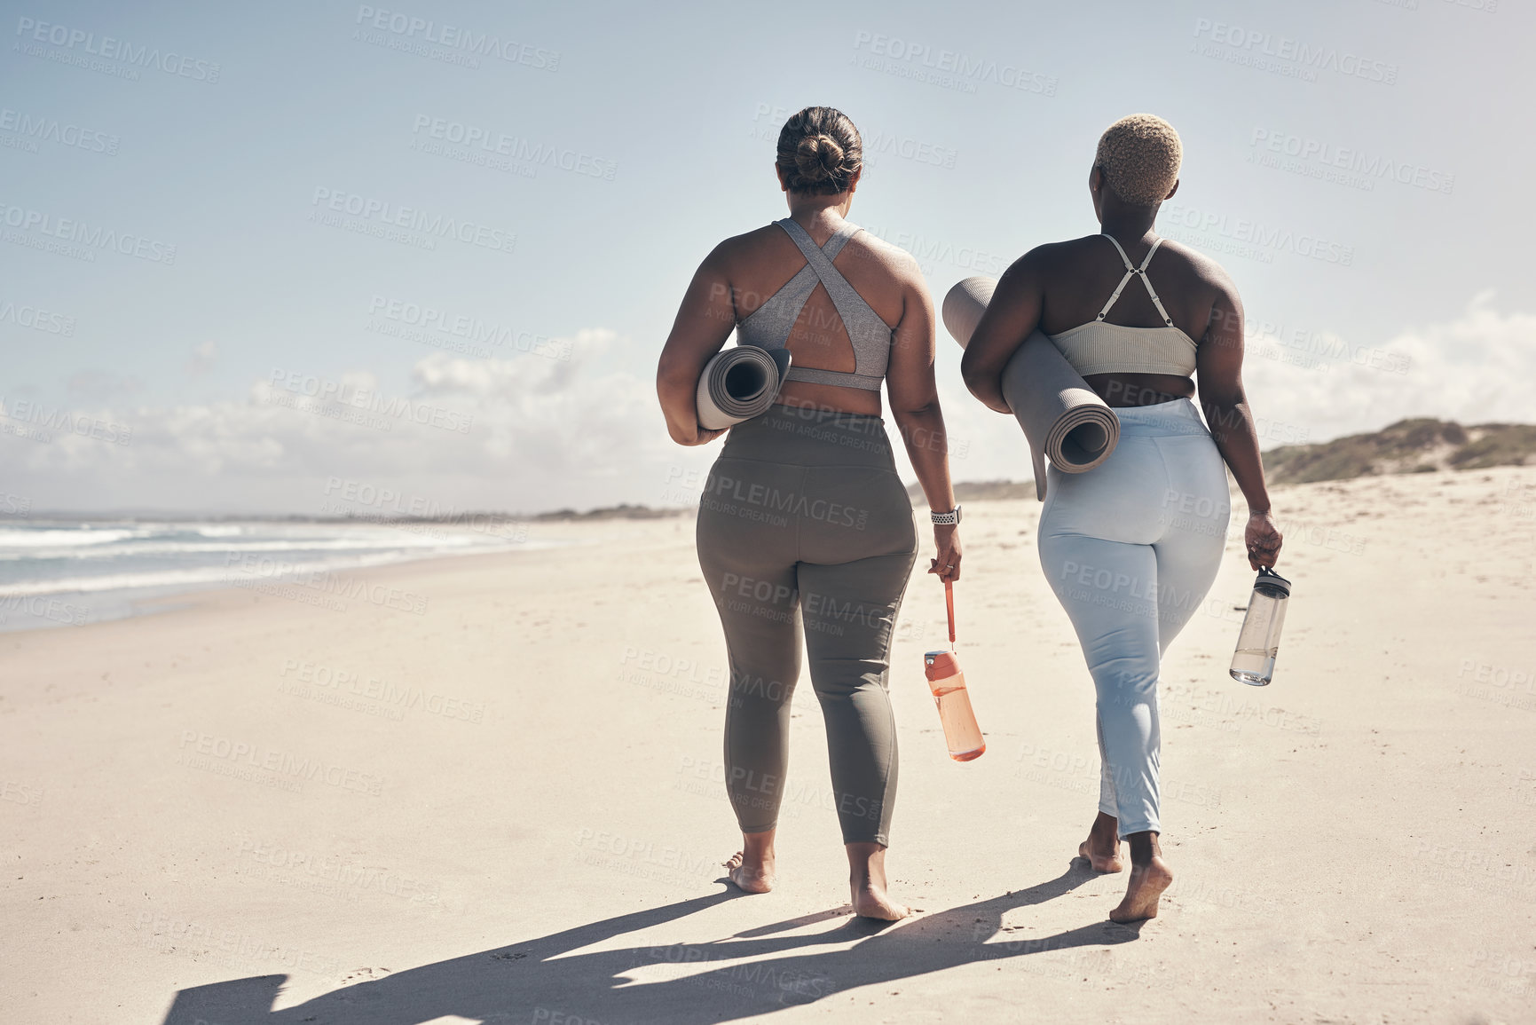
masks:
<path id="1" fill-rule="evenodd" d="M 917 556 L 912 504 L 877 416 L 773 406 L 737 424 L 699 501 L 699 566 L 730 653 L 725 784 L 743 833 L 777 825 L 800 636 L 826 724 L 843 842 L 888 842 L 891 633 Z"/>

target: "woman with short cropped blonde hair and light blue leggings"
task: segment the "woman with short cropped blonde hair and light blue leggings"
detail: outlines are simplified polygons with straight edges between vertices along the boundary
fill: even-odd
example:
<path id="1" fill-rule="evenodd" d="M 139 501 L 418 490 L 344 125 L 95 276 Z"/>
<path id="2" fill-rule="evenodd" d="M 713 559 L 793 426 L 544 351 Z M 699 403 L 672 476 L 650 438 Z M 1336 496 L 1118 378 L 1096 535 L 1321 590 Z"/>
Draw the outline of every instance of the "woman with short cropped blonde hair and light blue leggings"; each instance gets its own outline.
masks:
<path id="1" fill-rule="evenodd" d="M 1223 463 L 1247 499 L 1249 564 L 1275 566 L 1281 546 L 1243 390 L 1236 286 L 1215 261 L 1152 231 L 1178 191 L 1181 160 L 1163 118 L 1111 124 L 1087 178 L 1101 234 L 1020 257 L 960 364 L 978 400 L 1011 413 L 1003 367 L 1038 327 L 1120 418 L 1120 444 L 1100 467 L 1048 472 L 1040 512 L 1040 566 L 1098 692 L 1098 818 L 1078 854 L 1121 871 L 1120 844 L 1130 847 L 1126 897 L 1109 914 L 1117 922 L 1157 916 L 1174 881 L 1158 844 L 1158 665 L 1221 562 Z M 1190 401 L 1197 375 L 1204 423 Z"/>

